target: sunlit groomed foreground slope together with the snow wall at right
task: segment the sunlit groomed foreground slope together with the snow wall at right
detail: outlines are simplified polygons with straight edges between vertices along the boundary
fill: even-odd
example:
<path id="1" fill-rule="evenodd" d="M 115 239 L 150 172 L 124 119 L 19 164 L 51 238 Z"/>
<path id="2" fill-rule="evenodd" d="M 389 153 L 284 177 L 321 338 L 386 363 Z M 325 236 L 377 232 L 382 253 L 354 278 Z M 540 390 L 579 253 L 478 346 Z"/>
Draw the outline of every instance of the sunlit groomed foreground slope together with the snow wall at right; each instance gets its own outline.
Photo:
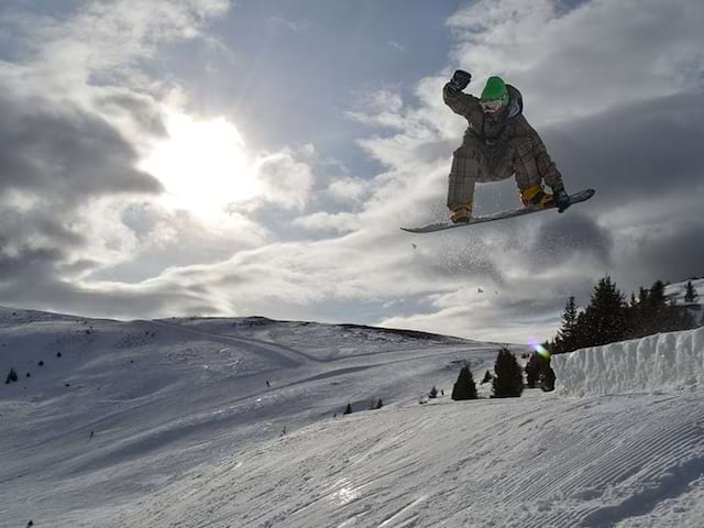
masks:
<path id="1" fill-rule="evenodd" d="M 314 425 L 112 527 L 701 528 L 704 398 L 701 377 L 682 373 L 701 365 L 702 332 L 561 356 L 566 385 L 550 395 L 441 398 Z M 603 394 L 571 396 L 588 392 Z"/>

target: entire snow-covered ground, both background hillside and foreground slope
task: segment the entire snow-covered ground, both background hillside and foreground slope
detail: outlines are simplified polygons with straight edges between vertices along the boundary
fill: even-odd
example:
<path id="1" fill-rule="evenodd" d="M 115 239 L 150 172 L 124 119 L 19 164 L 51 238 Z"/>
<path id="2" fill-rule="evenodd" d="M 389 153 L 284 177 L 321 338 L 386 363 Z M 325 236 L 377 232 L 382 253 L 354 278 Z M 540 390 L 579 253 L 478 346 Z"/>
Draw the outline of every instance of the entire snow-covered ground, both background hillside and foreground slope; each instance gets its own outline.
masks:
<path id="1" fill-rule="evenodd" d="M 703 339 L 578 351 L 554 393 L 490 399 L 495 343 L 0 308 L 0 526 L 701 528 Z M 449 398 L 463 363 L 482 399 Z"/>

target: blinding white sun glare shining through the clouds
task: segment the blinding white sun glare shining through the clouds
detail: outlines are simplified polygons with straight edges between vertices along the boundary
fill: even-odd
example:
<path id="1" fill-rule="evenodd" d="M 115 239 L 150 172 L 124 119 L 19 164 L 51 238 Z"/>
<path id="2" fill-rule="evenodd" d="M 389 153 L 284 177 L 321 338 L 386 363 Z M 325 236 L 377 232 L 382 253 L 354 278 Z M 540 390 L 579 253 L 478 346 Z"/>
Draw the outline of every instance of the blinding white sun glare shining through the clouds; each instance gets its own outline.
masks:
<path id="1" fill-rule="evenodd" d="M 197 121 L 177 113 L 169 117 L 167 130 L 169 138 L 141 165 L 164 184 L 166 206 L 215 218 L 229 204 L 257 194 L 244 141 L 227 119 Z"/>

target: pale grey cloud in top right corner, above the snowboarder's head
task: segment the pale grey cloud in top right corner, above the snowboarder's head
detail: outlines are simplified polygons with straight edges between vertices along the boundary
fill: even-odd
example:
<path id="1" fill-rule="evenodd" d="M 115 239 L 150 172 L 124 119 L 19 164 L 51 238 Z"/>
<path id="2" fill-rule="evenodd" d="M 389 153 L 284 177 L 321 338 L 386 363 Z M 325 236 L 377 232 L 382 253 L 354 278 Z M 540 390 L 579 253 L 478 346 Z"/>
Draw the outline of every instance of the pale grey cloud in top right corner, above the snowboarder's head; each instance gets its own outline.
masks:
<path id="1" fill-rule="evenodd" d="M 483 0 L 448 24 L 453 63 L 473 84 L 505 75 L 544 123 L 692 88 L 704 65 L 702 16 L 704 4 L 689 0 L 592 0 L 568 12 L 550 0 Z"/>

